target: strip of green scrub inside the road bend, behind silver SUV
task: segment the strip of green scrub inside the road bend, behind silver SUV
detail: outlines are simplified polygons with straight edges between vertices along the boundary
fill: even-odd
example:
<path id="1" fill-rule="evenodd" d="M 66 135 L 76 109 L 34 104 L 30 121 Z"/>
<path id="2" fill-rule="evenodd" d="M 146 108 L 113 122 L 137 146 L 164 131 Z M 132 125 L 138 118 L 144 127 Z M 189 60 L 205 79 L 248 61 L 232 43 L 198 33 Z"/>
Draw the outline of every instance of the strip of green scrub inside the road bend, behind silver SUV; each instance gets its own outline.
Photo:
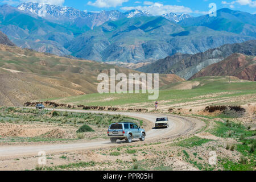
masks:
<path id="1" fill-rule="evenodd" d="M 53 112 L 54 113 L 54 112 Z M 57 114 L 52 115 L 49 110 L 36 110 L 36 109 L 19 109 L 1 107 L 0 109 L 0 122 L 44 122 L 65 125 L 97 125 L 98 127 L 108 127 L 111 123 L 115 122 L 135 122 L 138 125 L 143 125 L 143 121 L 138 119 L 125 117 L 122 115 L 109 115 L 99 113 L 73 113 L 68 111 L 56 111 Z M 51 117 L 49 117 L 51 116 Z"/>

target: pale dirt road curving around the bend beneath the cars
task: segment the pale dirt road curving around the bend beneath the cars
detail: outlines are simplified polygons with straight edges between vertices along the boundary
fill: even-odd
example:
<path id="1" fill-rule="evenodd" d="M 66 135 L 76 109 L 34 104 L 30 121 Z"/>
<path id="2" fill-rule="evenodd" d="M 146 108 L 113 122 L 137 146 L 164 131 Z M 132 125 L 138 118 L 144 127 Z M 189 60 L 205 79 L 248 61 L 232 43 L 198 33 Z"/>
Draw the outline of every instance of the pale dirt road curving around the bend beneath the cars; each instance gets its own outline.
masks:
<path id="1" fill-rule="evenodd" d="M 47 109 L 52 110 L 52 109 Z M 71 111 L 77 113 L 103 113 L 103 114 L 121 114 L 128 117 L 136 117 L 146 119 L 152 123 L 155 122 L 156 117 L 163 116 L 163 114 L 151 113 L 128 113 L 115 111 L 88 111 L 88 110 L 69 110 L 69 109 L 55 109 L 56 111 Z M 170 120 L 170 127 L 168 129 L 151 129 L 146 132 L 146 141 L 154 139 L 175 138 L 181 135 L 191 135 L 199 130 L 205 124 L 203 121 L 195 118 L 181 117 L 176 115 L 167 115 Z M 0 158 L 8 156 L 24 156 L 24 155 L 38 155 L 38 152 L 44 151 L 46 154 L 52 152 L 67 152 L 76 150 L 85 150 L 90 148 L 102 148 L 114 146 L 116 144 L 110 143 L 110 140 L 101 140 L 97 142 L 85 143 L 66 143 L 66 144 L 43 144 L 38 146 L 0 146 Z"/>

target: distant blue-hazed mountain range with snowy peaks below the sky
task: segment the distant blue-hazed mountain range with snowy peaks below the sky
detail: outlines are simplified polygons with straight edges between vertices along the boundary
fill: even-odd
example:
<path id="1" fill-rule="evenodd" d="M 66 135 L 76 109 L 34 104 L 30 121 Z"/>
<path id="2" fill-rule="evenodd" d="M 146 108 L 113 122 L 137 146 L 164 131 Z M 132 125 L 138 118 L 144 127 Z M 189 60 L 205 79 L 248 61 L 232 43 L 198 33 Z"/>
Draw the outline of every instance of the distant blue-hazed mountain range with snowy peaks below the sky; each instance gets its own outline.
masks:
<path id="1" fill-rule="evenodd" d="M 218 10 L 217 15 L 87 13 L 22 3 L 0 6 L 0 30 L 22 48 L 114 63 L 154 62 L 175 53 L 195 54 L 256 39 L 255 15 L 229 9 Z"/>

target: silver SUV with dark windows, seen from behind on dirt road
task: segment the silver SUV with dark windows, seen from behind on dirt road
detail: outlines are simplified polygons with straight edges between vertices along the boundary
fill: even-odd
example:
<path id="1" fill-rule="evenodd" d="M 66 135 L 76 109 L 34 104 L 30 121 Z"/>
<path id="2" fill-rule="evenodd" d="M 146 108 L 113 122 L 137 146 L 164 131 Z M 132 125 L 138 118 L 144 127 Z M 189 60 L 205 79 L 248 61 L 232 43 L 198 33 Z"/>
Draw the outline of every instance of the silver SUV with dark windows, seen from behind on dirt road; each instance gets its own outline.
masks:
<path id="1" fill-rule="evenodd" d="M 108 136 L 112 143 L 117 142 L 117 139 L 126 140 L 127 143 L 131 143 L 133 138 L 139 138 L 141 141 L 144 141 L 146 132 L 135 123 L 112 123 L 108 129 Z"/>

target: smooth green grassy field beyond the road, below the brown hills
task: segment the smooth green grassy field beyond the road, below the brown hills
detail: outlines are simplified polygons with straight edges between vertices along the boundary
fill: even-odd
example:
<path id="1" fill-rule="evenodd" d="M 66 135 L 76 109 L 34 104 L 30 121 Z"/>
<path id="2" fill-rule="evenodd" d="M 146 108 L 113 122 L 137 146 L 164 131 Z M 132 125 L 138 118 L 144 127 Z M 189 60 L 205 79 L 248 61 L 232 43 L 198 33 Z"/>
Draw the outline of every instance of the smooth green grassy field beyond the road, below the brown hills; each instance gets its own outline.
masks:
<path id="1" fill-rule="evenodd" d="M 198 82 L 195 88 L 187 90 L 173 89 L 179 87 L 179 84 L 191 84 L 188 82 L 178 82 L 160 89 L 158 101 L 160 105 L 173 105 L 180 102 L 191 102 L 197 100 L 221 100 L 230 97 L 240 97 L 254 95 L 250 101 L 256 101 L 256 82 L 241 81 L 232 77 L 203 77 L 196 78 L 192 82 Z M 205 97 L 203 97 L 205 96 Z M 88 105 L 88 106 L 133 106 L 139 103 L 149 103 L 153 105 L 154 101 L 148 100 L 148 94 L 88 94 L 84 96 L 52 98 L 42 101 L 56 101 L 62 104 Z M 227 104 L 244 104 L 246 100 L 234 100 Z M 218 102 L 216 103 L 218 104 Z"/>

